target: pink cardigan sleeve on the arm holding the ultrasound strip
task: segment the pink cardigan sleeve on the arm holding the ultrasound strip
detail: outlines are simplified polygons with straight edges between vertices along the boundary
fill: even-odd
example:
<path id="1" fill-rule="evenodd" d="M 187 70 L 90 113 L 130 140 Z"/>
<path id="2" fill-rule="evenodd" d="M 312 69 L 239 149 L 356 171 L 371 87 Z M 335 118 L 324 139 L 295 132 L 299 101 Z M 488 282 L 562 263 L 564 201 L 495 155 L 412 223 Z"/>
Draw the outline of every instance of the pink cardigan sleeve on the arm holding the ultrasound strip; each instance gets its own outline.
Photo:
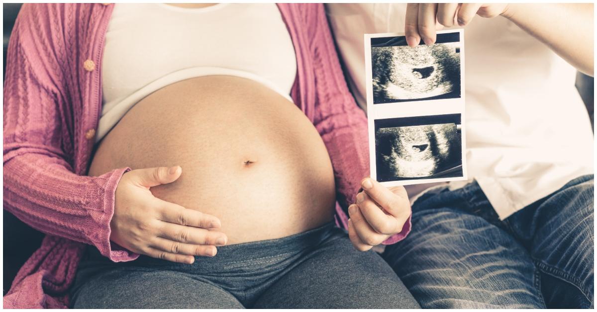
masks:
<path id="1" fill-rule="evenodd" d="M 313 65 L 315 67 L 316 104 L 315 127 L 325 143 L 336 175 L 336 189 L 341 210 L 341 220 L 347 219 L 347 207 L 355 202 L 361 180 L 369 176 L 369 146 L 367 117 L 350 93 L 323 5 L 318 6 L 313 20 L 316 27 L 312 38 Z M 341 223 L 344 226 L 346 224 Z M 401 233 L 389 237 L 384 245 L 404 239 L 411 229 L 408 217 Z"/>

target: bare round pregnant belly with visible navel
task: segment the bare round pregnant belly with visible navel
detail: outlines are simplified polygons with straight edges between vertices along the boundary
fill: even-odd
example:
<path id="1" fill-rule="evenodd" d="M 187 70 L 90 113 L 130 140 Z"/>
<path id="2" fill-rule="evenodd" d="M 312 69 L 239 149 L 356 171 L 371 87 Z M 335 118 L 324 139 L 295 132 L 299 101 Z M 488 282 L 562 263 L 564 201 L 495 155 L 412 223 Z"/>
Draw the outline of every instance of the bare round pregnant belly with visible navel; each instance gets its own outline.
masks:
<path id="1" fill-rule="evenodd" d="M 89 175 L 176 165 L 180 178 L 153 195 L 220 218 L 229 244 L 333 220 L 321 137 L 295 104 L 249 79 L 202 76 L 153 92 L 103 138 Z"/>

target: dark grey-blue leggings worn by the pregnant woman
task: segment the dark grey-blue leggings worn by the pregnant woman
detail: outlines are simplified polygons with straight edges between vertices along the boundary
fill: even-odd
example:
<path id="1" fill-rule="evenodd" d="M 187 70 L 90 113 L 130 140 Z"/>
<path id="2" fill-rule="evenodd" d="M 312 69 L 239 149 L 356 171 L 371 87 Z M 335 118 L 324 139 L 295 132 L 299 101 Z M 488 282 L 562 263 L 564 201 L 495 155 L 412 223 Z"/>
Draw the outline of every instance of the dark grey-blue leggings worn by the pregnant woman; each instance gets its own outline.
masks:
<path id="1" fill-rule="evenodd" d="M 419 308 L 392 268 L 334 223 L 222 246 L 193 264 L 115 263 L 88 248 L 70 294 L 73 308 Z"/>

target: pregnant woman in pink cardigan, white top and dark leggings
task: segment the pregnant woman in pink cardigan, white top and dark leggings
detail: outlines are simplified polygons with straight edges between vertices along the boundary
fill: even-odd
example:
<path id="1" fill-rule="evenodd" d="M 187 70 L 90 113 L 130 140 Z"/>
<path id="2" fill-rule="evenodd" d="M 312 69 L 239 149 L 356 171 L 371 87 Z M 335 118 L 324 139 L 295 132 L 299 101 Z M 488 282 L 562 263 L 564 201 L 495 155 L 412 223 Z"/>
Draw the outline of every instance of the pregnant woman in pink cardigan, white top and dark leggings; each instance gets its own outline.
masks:
<path id="1" fill-rule="evenodd" d="M 353 248 L 410 206 L 365 179 L 346 222 L 367 123 L 321 4 L 25 4 L 7 60 L 4 206 L 48 236 L 4 307 L 417 307 Z"/>

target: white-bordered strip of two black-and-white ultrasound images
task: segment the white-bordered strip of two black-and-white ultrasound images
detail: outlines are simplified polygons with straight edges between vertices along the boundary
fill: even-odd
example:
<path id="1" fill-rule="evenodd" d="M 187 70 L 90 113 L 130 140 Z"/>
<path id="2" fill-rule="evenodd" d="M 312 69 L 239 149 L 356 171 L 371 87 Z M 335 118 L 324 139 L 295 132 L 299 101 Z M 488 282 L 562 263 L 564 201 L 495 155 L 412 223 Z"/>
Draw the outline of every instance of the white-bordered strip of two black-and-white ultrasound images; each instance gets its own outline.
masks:
<path id="1" fill-rule="evenodd" d="M 365 34 L 371 177 L 386 186 L 466 180 L 464 33 L 408 47 Z"/>

